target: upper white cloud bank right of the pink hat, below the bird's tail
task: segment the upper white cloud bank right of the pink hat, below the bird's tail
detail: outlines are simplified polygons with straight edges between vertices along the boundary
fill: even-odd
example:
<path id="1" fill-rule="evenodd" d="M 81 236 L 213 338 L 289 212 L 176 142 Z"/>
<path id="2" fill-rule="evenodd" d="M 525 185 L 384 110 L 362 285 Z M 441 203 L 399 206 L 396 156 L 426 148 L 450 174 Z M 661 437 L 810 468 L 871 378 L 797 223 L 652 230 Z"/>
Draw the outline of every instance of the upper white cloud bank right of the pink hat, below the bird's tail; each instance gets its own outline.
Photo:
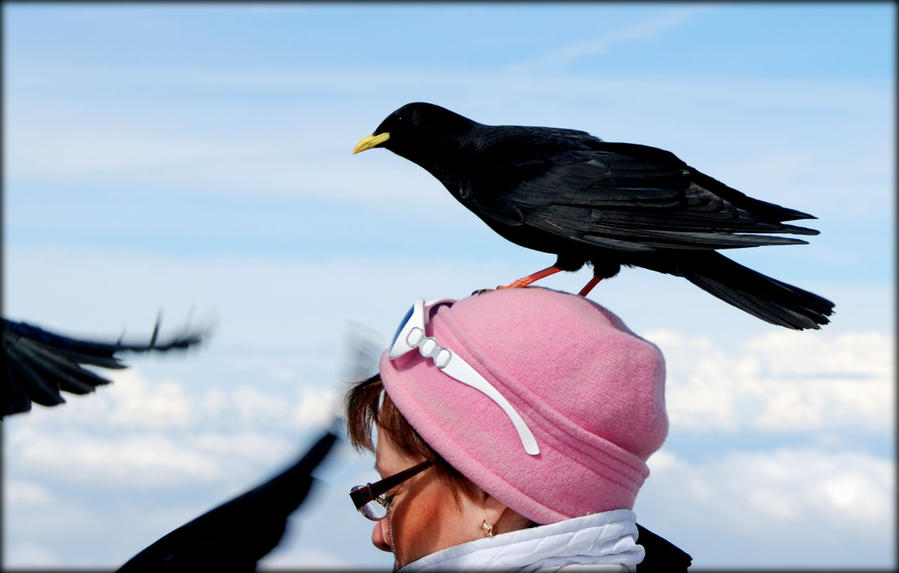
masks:
<path id="1" fill-rule="evenodd" d="M 893 339 L 880 332 L 769 332 L 737 344 L 644 333 L 666 357 L 671 425 L 817 432 L 893 427 Z"/>

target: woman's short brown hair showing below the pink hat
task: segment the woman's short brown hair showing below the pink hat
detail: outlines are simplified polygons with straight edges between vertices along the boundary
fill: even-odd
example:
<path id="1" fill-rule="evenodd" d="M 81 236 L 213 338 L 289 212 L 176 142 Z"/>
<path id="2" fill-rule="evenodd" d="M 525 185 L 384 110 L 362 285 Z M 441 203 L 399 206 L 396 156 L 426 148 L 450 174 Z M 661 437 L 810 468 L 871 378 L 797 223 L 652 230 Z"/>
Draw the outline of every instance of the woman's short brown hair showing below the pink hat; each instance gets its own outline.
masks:
<path id="1" fill-rule="evenodd" d="M 437 475 L 450 486 L 450 491 L 453 492 L 457 502 L 459 491 L 469 496 L 477 492 L 478 486 L 435 452 L 406 421 L 384 390 L 379 374 L 353 384 L 346 394 L 346 412 L 347 434 L 350 444 L 357 451 L 375 451 L 372 433 L 377 424 L 379 430 L 387 432 L 404 454 L 434 460 Z"/>

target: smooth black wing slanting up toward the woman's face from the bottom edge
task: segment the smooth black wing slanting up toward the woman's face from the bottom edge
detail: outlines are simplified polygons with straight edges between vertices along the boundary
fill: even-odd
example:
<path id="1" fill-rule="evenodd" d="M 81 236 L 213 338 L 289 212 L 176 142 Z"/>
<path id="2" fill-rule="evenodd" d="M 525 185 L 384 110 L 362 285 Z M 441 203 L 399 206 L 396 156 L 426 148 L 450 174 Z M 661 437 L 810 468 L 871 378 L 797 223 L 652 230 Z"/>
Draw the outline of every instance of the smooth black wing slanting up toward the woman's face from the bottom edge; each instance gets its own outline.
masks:
<path id="1" fill-rule="evenodd" d="M 182 525 L 132 557 L 119 573 L 256 571 L 284 535 L 287 518 L 306 499 L 337 435 L 325 432 L 295 464 Z"/>

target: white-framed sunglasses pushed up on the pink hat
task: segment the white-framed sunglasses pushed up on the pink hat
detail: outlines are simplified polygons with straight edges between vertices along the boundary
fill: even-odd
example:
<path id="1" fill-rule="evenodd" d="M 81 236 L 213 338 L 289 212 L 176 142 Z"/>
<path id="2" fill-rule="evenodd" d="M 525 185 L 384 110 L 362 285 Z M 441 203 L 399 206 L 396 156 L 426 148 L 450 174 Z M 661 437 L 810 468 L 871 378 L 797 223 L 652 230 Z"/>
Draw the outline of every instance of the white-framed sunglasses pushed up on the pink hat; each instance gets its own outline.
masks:
<path id="1" fill-rule="evenodd" d="M 427 307 L 430 310 L 435 306 L 447 302 L 451 301 L 448 299 L 440 299 L 428 303 Z M 512 425 L 515 426 L 515 430 L 518 432 L 518 437 L 521 439 L 521 445 L 524 446 L 524 450 L 532 456 L 539 454 L 540 448 L 537 446 L 537 440 L 534 438 L 531 429 L 528 428 L 528 425 L 524 422 L 521 415 L 515 410 L 512 404 L 499 393 L 499 390 L 490 384 L 486 378 L 481 376 L 481 374 L 461 356 L 455 354 L 448 348 L 440 346 L 437 339 L 433 336 L 425 336 L 425 323 L 427 319 L 425 306 L 424 299 L 419 298 L 415 300 L 412 308 L 409 309 L 409 312 L 406 313 L 406 316 L 403 317 L 402 322 L 400 322 L 399 328 L 396 329 L 396 334 L 393 335 L 393 343 L 391 344 L 390 350 L 387 351 L 387 357 L 391 360 L 395 360 L 417 348 L 419 354 L 424 358 L 433 360 L 434 365 L 444 374 L 453 380 L 480 390 L 488 398 L 493 400 L 497 406 L 502 408 L 503 412 L 505 412 L 506 416 L 508 416 L 509 420 L 512 422 Z"/>

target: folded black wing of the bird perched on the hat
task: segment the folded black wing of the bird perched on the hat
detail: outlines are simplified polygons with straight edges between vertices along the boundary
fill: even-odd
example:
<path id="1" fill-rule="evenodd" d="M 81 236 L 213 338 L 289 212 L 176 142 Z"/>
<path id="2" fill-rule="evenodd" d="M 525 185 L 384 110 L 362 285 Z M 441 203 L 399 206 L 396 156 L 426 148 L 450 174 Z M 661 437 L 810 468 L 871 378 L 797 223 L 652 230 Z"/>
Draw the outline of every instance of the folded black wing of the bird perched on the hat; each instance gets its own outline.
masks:
<path id="1" fill-rule="evenodd" d="M 752 199 L 673 154 L 594 140 L 537 174 L 503 170 L 476 208 L 519 216 L 520 224 L 616 250 L 722 249 L 802 244 L 772 233 L 817 234 L 783 221 L 810 215 Z M 522 172 L 523 173 L 523 172 Z"/>

